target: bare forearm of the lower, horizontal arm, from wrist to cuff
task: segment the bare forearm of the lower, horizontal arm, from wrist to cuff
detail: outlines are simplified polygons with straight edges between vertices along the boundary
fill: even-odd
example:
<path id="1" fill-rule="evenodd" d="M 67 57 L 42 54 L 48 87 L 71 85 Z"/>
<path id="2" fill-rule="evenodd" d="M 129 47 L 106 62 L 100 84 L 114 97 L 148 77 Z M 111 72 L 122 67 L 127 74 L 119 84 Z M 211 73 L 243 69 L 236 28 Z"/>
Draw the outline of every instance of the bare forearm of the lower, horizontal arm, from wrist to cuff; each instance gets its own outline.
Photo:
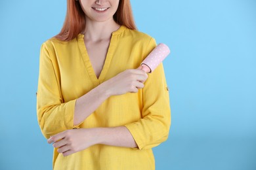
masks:
<path id="1" fill-rule="evenodd" d="M 98 135 L 98 141 L 96 144 L 121 146 L 127 148 L 138 147 L 130 131 L 125 126 L 97 127 L 94 128 L 93 131 L 95 135 Z"/>

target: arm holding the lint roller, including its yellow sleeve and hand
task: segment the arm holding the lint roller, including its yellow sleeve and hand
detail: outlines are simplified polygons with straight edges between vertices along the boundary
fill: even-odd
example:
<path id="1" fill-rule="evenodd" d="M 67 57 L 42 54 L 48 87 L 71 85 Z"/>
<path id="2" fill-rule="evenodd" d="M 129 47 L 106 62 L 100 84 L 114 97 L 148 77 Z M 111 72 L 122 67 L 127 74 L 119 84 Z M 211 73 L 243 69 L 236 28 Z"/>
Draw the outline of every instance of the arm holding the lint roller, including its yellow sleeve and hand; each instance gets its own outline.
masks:
<path id="1" fill-rule="evenodd" d="M 37 118 L 43 135 L 49 137 L 78 127 L 111 95 L 137 92 L 147 75 L 140 69 L 119 73 L 79 99 L 64 101 L 60 88 L 58 60 L 51 42 L 41 46 L 37 88 Z"/>

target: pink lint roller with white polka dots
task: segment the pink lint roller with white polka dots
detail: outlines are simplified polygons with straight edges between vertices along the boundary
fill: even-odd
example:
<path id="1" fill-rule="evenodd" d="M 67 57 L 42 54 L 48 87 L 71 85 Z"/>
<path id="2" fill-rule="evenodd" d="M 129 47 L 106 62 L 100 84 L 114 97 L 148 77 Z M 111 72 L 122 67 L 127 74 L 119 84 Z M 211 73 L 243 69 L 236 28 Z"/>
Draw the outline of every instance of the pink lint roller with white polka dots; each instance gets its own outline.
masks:
<path id="1" fill-rule="evenodd" d="M 142 69 L 147 73 L 152 73 L 156 67 L 170 54 L 170 49 L 167 45 L 160 43 L 140 64 Z"/>

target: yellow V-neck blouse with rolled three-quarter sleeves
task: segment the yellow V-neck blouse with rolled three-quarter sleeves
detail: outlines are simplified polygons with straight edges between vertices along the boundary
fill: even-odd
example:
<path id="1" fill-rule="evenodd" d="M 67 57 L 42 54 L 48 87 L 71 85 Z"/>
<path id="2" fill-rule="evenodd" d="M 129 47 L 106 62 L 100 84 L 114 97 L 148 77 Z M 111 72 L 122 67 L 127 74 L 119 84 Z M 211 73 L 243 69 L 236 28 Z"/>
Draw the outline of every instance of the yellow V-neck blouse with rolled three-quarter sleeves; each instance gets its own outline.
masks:
<path id="1" fill-rule="evenodd" d="M 109 97 L 79 126 L 74 126 L 75 100 L 126 69 L 136 69 L 156 47 L 155 40 L 121 26 L 112 33 L 99 78 L 83 35 L 69 42 L 49 39 L 41 46 L 37 117 L 48 139 L 66 129 L 126 126 L 139 148 L 96 144 L 70 156 L 54 148 L 54 169 L 155 169 L 152 147 L 165 141 L 171 124 L 169 92 L 162 63 L 148 74 L 138 93 Z"/>

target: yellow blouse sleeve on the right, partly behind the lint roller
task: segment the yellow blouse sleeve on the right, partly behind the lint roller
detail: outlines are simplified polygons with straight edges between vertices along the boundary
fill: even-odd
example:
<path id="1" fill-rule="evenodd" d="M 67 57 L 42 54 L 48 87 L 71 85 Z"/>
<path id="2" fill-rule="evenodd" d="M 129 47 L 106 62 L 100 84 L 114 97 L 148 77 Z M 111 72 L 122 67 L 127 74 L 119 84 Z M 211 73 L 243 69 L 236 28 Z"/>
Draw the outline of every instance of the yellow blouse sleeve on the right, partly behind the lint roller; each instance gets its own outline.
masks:
<path id="1" fill-rule="evenodd" d="M 156 41 L 151 39 L 146 56 L 156 47 Z M 152 148 L 167 140 L 171 126 L 171 108 L 169 90 L 165 80 L 163 64 L 154 72 L 148 74 L 148 79 L 142 88 L 142 118 L 131 124 L 126 124 L 135 139 L 139 149 Z"/>

